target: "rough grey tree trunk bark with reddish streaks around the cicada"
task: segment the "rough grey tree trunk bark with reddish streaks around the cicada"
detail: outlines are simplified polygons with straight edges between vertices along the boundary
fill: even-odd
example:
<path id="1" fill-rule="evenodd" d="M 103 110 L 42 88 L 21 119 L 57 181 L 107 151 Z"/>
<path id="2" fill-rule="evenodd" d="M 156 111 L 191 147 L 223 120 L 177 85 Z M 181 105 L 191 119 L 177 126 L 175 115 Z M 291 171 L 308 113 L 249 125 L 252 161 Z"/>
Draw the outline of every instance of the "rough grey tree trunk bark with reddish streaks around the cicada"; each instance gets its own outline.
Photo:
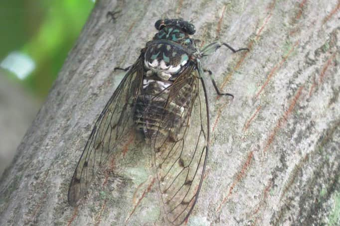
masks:
<path id="1" fill-rule="evenodd" d="M 122 78 L 113 68 L 131 65 L 166 16 L 193 19 L 204 43 L 250 49 L 203 60 L 235 98 L 216 99 L 209 87 L 211 151 L 187 224 L 340 224 L 339 8 L 337 0 L 98 1 L 1 178 L 0 225 L 163 224 L 142 141 L 116 154 L 78 208 L 67 189 Z"/>

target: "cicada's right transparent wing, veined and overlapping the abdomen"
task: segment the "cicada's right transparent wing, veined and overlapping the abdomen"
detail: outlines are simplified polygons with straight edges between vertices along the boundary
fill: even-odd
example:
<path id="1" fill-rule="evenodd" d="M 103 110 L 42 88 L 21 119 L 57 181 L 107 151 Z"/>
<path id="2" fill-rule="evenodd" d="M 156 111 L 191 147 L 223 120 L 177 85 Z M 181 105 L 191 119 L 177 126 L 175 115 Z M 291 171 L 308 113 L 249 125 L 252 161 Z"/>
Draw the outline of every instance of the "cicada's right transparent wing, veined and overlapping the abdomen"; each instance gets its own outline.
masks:
<path id="1" fill-rule="evenodd" d="M 198 72 L 187 69 L 169 88 L 153 142 L 162 201 L 173 225 L 182 224 L 196 203 L 208 153 L 208 103 Z"/>

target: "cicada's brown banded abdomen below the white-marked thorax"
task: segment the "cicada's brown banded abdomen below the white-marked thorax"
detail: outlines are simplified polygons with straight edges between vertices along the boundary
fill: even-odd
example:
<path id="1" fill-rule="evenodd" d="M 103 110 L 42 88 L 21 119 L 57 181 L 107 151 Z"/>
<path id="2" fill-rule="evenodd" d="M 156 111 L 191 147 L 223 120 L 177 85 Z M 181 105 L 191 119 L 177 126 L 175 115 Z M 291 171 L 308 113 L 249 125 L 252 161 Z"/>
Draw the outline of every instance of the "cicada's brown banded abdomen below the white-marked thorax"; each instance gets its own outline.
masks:
<path id="1" fill-rule="evenodd" d="M 136 101 L 134 119 L 137 129 L 147 138 L 159 134 L 176 139 L 191 100 L 189 84 L 181 84 L 174 96 L 173 89 L 176 88 L 179 87 L 173 85 L 172 81 L 144 77 L 143 87 Z"/>

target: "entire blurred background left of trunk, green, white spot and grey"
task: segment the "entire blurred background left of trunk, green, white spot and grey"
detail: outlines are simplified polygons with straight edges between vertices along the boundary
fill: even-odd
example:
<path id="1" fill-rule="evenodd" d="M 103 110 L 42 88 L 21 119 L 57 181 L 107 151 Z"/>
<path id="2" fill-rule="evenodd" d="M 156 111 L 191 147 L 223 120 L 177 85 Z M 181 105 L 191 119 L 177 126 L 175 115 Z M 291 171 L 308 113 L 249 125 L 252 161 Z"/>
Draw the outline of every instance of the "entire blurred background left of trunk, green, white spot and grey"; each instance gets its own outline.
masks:
<path id="1" fill-rule="evenodd" d="M 95 0 L 0 1 L 0 175 L 94 4 Z"/>

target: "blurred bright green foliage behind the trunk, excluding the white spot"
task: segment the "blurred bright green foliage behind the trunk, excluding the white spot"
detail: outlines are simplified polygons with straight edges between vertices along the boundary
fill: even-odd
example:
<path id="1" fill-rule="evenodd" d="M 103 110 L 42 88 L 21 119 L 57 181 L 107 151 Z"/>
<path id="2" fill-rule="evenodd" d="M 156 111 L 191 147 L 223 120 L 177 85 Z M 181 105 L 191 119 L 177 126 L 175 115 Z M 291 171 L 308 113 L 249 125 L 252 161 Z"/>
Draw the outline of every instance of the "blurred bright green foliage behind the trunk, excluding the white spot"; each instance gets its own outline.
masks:
<path id="1" fill-rule="evenodd" d="M 93 0 L 4 0 L 0 3 L 0 61 L 20 51 L 35 69 L 23 80 L 45 97 L 94 6 Z"/>

